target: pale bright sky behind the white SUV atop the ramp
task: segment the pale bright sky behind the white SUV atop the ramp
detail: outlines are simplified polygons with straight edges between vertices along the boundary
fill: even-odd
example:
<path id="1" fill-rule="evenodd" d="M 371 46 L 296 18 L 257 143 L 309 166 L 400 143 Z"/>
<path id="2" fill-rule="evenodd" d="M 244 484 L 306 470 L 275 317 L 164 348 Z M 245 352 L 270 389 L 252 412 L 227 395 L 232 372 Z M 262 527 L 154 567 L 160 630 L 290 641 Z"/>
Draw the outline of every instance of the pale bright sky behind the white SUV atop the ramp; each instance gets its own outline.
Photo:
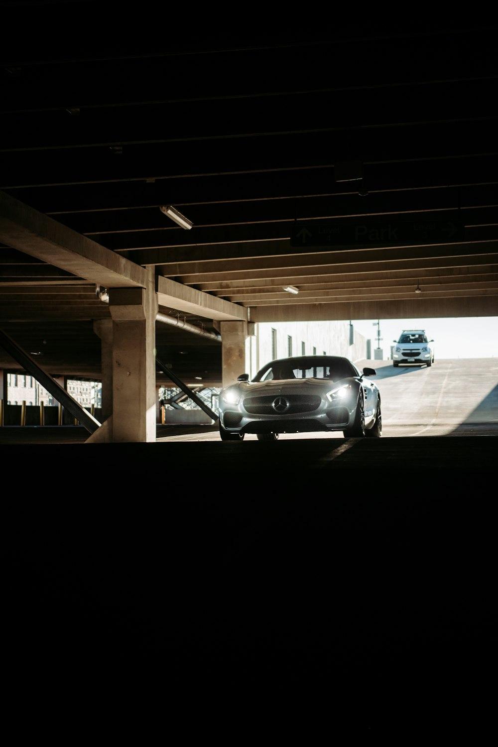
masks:
<path id="1" fill-rule="evenodd" d="M 379 322 L 379 328 L 377 323 Z M 355 330 L 390 356 L 390 346 L 403 329 L 425 329 L 434 339 L 438 358 L 498 358 L 498 317 L 461 317 L 451 319 L 360 319 L 352 320 Z M 380 342 L 377 340 L 380 329 Z"/>

